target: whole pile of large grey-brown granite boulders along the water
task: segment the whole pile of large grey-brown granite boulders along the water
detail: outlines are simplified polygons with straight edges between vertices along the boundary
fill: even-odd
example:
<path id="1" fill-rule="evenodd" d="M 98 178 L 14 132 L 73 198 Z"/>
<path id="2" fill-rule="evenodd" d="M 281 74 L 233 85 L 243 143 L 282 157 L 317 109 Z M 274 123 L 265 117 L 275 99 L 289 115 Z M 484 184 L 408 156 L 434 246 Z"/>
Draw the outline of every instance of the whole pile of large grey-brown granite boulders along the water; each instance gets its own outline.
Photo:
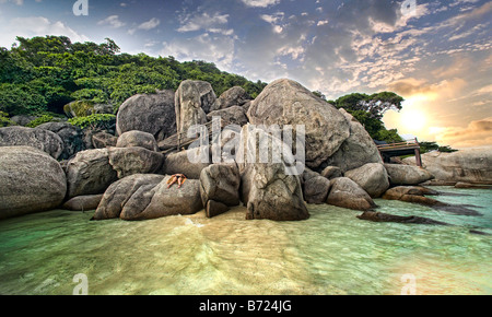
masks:
<path id="1" fill-rule="evenodd" d="M 169 151 L 183 136 L 192 138 L 190 127 L 213 117 L 229 125 L 218 142 Z M 271 127 L 293 127 L 305 141 L 302 151 L 292 151 Z M 290 151 L 270 163 L 248 160 L 274 149 Z M 304 152 L 300 173 L 292 173 L 294 152 Z M 174 174 L 186 176 L 179 188 Z M 203 209 L 212 218 L 243 203 L 248 220 L 305 220 L 307 203 L 367 211 L 374 198 L 410 201 L 408 192 L 388 189 L 432 178 L 418 166 L 384 164 L 353 116 L 286 79 L 255 99 L 242 87 L 216 97 L 210 83 L 190 80 L 176 92 L 136 95 L 119 107 L 113 132 L 87 134 L 67 122 L 0 129 L 0 219 L 60 207 L 96 210 L 94 220 Z"/>

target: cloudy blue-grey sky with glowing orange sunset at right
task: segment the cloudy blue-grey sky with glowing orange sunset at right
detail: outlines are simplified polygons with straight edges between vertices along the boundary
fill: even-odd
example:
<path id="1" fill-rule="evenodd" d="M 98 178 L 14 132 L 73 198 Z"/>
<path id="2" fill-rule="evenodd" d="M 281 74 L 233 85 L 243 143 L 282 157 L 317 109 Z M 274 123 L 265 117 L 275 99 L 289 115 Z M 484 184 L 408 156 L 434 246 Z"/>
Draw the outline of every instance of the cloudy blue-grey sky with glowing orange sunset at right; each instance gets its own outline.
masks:
<path id="1" fill-rule="evenodd" d="M 492 1 L 87 0 L 87 15 L 74 14 L 75 2 L 0 0 L 0 46 L 15 36 L 109 37 L 122 52 L 206 60 L 253 81 L 289 78 L 328 99 L 393 91 L 406 101 L 386 113 L 388 129 L 492 146 Z"/>

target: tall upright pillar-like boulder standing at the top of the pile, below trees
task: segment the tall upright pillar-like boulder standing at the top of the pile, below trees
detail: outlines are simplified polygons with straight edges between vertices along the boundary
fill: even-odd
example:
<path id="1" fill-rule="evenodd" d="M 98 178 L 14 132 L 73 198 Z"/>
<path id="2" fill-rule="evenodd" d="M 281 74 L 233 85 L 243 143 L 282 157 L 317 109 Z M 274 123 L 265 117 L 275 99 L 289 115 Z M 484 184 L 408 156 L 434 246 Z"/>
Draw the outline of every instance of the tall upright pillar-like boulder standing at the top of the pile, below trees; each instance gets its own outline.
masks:
<path id="1" fill-rule="evenodd" d="M 207 122 L 207 114 L 216 96 L 212 85 L 204 81 L 186 80 L 175 94 L 176 127 L 178 132 L 187 132 L 194 125 Z"/>

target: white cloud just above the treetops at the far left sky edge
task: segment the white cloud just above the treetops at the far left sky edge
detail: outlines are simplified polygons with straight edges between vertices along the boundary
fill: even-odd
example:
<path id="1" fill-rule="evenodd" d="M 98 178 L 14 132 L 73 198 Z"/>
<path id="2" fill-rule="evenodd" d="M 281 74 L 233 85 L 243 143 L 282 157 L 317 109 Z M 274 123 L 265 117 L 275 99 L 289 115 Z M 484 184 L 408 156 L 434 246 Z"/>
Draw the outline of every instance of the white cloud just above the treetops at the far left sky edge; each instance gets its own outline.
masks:
<path id="1" fill-rule="evenodd" d="M 63 22 L 50 21 L 44 16 L 15 17 L 2 27 L 0 46 L 10 47 L 15 36 L 34 37 L 46 35 L 68 36 L 72 42 L 89 42 L 90 38 L 79 34 Z"/>

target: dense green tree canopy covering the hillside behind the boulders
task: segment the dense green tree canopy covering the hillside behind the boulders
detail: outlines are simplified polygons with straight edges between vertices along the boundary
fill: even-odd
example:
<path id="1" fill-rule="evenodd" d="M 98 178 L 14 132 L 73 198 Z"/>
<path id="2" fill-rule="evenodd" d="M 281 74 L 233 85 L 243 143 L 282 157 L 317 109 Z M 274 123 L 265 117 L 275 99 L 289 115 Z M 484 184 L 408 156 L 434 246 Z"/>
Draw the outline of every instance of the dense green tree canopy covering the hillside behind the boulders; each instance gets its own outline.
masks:
<path id="1" fill-rule="evenodd" d="M 17 37 L 0 48 L 0 111 L 14 115 L 63 113 L 72 101 L 112 104 L 157 90 L 176 90 L 183 80 L 203 80 L 220 95 L 242 86 L 256 97 L 267 85 L 219 70 L 206 61 L 179 62 L 174 57 L 119 54 L 105 43 L 72 43 L 66 36 Z"/>

